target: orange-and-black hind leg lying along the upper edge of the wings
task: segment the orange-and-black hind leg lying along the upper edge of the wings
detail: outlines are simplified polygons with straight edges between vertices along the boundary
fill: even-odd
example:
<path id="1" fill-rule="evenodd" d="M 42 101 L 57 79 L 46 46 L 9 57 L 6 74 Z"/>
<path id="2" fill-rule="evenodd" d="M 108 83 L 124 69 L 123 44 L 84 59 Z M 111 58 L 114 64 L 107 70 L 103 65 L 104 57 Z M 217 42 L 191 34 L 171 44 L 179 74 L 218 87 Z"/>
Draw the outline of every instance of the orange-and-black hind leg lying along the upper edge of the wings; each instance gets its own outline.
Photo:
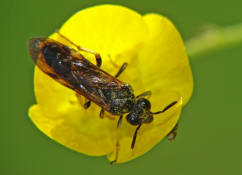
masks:
<path id="1" fill-rule="evenodd" d="M 66 36 L 62 35 L 58 30 L 56 31 L 56 33 L 64 38 L 66 41 L 68 41 L 70 44 L 72 44 L 73 46 L 75 46 L 79 51 L 83 51 L 83 52 L 87 52 L 87 53 L 90 53 L 90 54 L 93 54 L 96 58 L 96 64 L 98 67 L 100 67 L 102 65 L 102 58 L 101 58 L 101 55 L 93 50 L 89 50 L 89 49 L 86 49 L 86 48 L 83 48 L 81 46 L 78 46 L 77 44 L 75 44 L 74 42 L 72 42 L 70 39 L 68 39 Z"/>

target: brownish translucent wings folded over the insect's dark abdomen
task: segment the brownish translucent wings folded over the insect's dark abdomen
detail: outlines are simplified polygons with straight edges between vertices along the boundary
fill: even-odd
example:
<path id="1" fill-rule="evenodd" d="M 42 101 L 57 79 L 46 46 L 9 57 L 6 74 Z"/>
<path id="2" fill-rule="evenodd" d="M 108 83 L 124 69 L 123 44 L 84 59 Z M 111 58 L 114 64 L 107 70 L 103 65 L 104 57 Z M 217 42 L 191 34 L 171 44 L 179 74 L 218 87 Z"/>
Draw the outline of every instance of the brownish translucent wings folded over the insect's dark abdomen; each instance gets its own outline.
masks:
<path id="1" fill-rule="evenodd" d="M 103 90 L 119 90 L 123 82 L 104 72 L 79 52 L 49 38 L 32 38 L 29 54 L 47 75 L 109 110 Z"/>

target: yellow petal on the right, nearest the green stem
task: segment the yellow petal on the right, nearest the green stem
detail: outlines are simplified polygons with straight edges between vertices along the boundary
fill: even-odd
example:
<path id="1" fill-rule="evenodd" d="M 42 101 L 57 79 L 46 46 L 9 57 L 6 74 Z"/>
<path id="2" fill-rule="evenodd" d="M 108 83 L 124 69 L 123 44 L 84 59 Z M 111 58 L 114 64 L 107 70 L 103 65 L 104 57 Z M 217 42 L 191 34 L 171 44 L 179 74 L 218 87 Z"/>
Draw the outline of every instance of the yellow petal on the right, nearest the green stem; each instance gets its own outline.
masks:
<path id="1" fill-rule="evenodd" d="M 193 77 L 184 42 L 175 26 L 158 14 L 147 14 L 144 20 L 151 34 L 146 46 L 140 51 L 139 62 L 144 64 L 140 72 L 142 87 L 152 86 L 153 107 L 166 105 L 161 92 L 175 92 L 186 104 L 193 91 Z M 141 66 L 140 66 L 141 67 Z"/>

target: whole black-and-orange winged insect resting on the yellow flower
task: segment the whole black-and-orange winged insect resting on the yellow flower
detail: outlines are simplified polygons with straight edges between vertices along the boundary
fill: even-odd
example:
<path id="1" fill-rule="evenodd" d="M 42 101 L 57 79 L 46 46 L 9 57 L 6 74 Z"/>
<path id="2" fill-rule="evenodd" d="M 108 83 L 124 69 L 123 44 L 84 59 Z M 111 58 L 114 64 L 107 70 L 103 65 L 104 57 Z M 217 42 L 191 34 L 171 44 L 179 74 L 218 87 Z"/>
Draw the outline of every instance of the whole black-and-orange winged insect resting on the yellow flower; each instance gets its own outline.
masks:
<path id="1" fill-rule="evenodd" d="M 100 54 L 82 48 L 70 41 L 60 32 L 57 33 L 79 51 L 94 54 L 96 65 L 92 64 L 73 48 L 50 38 L 31 38 L 28 42 L 29 54 L 34 63 L 45 74 L 62 85 L 74 90 L 79 96 L 84 96 L 88 100 L 84 104 L 84 108 L 88 108 L 91 102 L 94 102 L 101 107 L 101 118 L 104 117 L 105 111 L 112 115 L 119 116 L 115 160 L 110 162 L 111 164 L 115 163 L 118 160 L 120 145 L 119 133 L 123 115 L 128 113 L 126 116 L 128 123 L 137 126 L 131 143 L 131 149 L 133 149 L 140 127 L 145 123 L 151 123 L 153 121 L 153 115 L 167 111 L 174 106 L 177 101 L 170 103 L 161 111 L 151 112 L 151 104 L 148 100 L 148 97 L 151 96 L 151 91 L 146 91 L 135 96 L 131 85 L 118 79 L 119 75 L 127 67 L 127 63 L 121 66 L 115 76 L 111 76 L 100 69 L 102 64 Z M 168 134 L 168 136 L 170 136 L 169 140 L 174 139 L 176 128 L 177 126 Z"/>

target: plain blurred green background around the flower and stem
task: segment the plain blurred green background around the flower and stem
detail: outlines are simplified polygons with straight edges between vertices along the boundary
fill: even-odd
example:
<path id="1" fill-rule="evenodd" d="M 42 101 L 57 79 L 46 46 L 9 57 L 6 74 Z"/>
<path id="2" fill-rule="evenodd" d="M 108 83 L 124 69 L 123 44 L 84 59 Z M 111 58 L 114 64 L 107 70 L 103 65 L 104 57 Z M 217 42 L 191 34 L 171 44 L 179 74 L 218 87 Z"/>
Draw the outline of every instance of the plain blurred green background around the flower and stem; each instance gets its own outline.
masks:
<path id="1" fill-rule="evenodd" d="M 76 153 L 36 129 L 27 115 L 35 103 L 27 39 L 48 36 L 73 13 L 103 3 L 164 14 L 185 40 L 204 24 L 242 22 L 239 0 L 1 0 L 0 175 L 242 174 L 242 44 L 190 58 L 195 89 L 178 137 L 133 161 L 110 166 L 106 157 Z"/>

